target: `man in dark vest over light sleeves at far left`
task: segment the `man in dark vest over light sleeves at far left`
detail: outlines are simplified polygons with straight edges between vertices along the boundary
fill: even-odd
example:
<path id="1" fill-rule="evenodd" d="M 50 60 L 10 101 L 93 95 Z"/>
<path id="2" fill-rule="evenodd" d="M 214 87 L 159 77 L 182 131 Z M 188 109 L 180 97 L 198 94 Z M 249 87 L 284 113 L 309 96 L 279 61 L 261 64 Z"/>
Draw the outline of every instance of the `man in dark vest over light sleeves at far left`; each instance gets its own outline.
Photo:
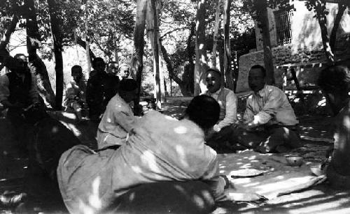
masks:
<path id="1" fill-rule="evenodd" d="M 18 153 L 27 156 L 27 134 L 29 125 L 23 119 L 23 109 L 37 104 L 36 77 L 31 74 L 26 61 L 6 56 L 6 67 L 11 72 L 0 77 L 0 102 L 8 109 L 6 119 L 13 127 L 13 137 L 18 144 Z"/>

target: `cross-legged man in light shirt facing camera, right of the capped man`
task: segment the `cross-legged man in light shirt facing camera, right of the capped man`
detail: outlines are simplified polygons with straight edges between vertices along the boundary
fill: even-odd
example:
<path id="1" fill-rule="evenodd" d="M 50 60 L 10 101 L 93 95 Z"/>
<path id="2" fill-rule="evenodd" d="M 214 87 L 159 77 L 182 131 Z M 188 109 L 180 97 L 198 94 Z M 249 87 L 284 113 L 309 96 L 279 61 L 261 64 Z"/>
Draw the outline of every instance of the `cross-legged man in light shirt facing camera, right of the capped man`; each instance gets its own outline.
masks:
<path id="1" fill-rule="evenodd" d="M 248 84 L 253 94 L 246 100 L 244 124 L 235 130 L 237 142 L 261 153 L 283 153 L 300 146 L 298 121 L 286 94 L 265 82 L 266 70 L 253 66 Z"/>

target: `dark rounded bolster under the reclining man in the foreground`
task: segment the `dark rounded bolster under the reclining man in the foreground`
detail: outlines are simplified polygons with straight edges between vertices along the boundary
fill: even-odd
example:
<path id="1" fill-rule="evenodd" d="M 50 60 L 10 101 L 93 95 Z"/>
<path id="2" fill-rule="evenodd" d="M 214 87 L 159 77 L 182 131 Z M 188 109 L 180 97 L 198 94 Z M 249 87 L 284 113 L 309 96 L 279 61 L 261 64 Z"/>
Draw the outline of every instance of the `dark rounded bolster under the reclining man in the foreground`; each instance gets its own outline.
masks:
<path id="1" fill-rule="evenodd" d="M 116 199 L 105 213 L 211 213 L 214 197 L 202 181 L 141 184 Z"/>

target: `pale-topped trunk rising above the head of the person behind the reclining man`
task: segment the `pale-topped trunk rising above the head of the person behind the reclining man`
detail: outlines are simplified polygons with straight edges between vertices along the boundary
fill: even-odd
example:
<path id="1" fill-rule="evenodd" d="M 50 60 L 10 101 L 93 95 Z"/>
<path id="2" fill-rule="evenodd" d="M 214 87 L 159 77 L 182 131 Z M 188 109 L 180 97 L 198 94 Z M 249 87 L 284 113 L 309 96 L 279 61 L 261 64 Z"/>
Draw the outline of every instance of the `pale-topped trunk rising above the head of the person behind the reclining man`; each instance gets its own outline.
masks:
<path id="1" fill-rule="evenodd" d="M 144 46 L 145 46 L 145 24 L 146 24 L 146 6 L 147 0 L 137 1 L 137 13 L 134 26 L 134 54 L 132 56 L 132 70 L 136 77 L 137 84 L 139 86 L 139 92 L 137 99 L 134 100 L 135 105 L 139 105 L 140 90 L 141 90 L 141 78 L 142 70 L 144 69 Z"/>

